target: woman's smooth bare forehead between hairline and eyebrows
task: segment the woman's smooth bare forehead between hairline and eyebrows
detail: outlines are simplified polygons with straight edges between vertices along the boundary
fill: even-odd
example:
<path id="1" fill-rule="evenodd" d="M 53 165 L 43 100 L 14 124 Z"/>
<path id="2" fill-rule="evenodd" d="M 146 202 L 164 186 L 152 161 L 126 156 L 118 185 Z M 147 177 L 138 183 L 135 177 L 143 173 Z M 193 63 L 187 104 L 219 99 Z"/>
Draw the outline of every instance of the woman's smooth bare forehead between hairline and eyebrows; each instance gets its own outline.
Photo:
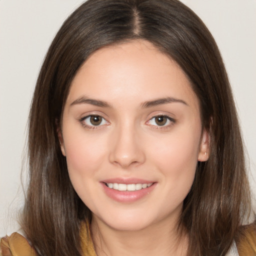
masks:
<path id="1" fill-rule="evenodd" d="M 172 96 L 198 104 L 179 65 L 145 40 L 104 46 L 92 53 L 76 73 L 67 101 L 82 94 L 135 102 Z"/>

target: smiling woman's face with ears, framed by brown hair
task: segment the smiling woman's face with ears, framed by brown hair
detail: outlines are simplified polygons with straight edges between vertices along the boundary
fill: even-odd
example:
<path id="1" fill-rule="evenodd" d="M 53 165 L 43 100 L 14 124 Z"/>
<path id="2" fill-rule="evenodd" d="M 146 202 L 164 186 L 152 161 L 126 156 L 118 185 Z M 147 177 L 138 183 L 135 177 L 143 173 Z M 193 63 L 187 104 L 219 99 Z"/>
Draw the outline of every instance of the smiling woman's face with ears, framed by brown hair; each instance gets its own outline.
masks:
<path id="1" fill-rule="evenodd" d="M 177 220 L 208 150 L 189 80 L 143 40 L 103 47 L 85 61 L 59 140 L 93 219 L 120 230 Z"/>

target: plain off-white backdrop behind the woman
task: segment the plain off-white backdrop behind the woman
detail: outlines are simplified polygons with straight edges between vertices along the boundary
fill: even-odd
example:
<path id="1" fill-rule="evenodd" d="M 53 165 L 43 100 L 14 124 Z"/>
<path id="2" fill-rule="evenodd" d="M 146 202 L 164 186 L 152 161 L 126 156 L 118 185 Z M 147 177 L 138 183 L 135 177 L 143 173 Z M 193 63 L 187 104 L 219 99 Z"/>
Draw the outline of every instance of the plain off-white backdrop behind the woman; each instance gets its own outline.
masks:
<path id="1" fill-rule="evenodd" d="M 64 19 L 82 0 L 0 0 L 0 236 L 16 231 L 26 123 L 36 77 Z M 256 1 L 183 0 L 213 34 L 233 88 L 256 185 Z M 24 176 L 25 179 L 24 165 Z"/>

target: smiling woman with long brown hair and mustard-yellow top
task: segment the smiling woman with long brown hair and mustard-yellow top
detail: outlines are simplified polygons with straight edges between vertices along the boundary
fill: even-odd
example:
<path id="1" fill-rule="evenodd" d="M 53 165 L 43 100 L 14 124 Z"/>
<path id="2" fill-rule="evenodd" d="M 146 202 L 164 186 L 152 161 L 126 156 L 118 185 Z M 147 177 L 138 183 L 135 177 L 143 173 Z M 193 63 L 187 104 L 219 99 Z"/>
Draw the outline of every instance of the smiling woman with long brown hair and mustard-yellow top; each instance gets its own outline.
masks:
<path id="1" fill-rule="evenodd" d="M 32 247 L 13 234 L 3 255 L 256 253 L 224 65 L 179 1 L 75 10 L 39 73 L 28 144 Z"/>

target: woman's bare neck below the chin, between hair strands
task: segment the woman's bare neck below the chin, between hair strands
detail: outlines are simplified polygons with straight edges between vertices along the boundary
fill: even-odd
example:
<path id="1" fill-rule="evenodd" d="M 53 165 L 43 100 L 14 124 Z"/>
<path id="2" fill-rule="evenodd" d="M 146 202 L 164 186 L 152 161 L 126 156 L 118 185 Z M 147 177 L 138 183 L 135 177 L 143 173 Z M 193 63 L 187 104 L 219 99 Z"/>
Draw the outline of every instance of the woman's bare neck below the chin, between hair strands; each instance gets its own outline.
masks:
<path id="1" fill-rule="evenodd" d="M 164 220 L 141 230 L 117 230 L 93 217 L 91 232 L 98 256 L 186 255 L 187 234 Z"/>

